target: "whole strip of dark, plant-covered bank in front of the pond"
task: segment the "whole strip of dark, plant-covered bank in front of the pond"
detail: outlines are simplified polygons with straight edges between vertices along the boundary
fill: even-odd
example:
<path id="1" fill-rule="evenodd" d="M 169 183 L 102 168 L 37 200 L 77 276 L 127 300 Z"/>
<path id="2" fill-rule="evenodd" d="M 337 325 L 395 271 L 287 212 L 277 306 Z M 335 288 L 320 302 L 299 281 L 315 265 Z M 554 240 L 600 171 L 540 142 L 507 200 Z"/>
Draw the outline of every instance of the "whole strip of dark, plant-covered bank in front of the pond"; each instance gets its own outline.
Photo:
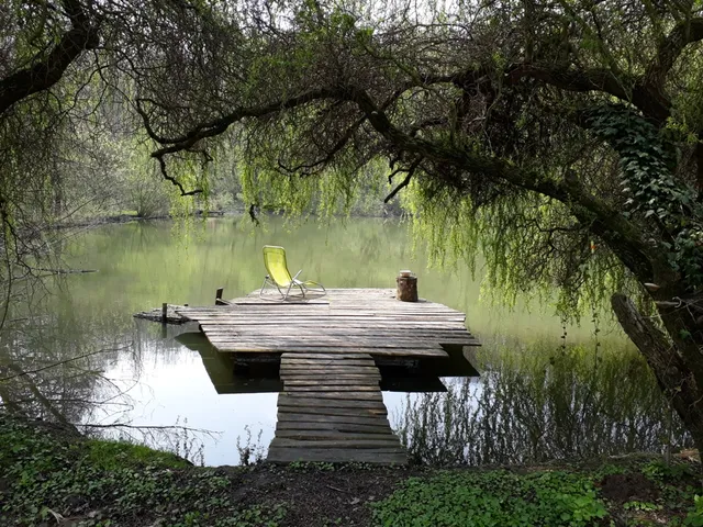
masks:
<path id="1" fill-rule="evenodd" d="M 699 467 L 198 468 L 0 414 L 0 525 L 703 526 Z"/>

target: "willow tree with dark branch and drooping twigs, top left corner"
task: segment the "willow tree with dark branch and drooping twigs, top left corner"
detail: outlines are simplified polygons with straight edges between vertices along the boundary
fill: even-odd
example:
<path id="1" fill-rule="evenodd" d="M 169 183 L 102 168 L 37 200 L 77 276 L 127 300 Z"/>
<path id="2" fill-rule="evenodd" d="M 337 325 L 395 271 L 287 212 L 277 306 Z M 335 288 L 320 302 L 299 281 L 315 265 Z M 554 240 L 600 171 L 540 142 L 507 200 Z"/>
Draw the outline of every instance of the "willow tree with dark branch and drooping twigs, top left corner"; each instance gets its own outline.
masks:
<path id="1" fill-rule="evenodd" d="M 0 2 L 0 326 L 12 285 L 49 267 L 37 260 L 65 235 L 52 224 L 133 193 L 115 176 L 141 146 L 130 79 L 146 72 L 130 57 L 183 33 L 193 42 L 205 24 L 196 7 L 169 0 Z"/>

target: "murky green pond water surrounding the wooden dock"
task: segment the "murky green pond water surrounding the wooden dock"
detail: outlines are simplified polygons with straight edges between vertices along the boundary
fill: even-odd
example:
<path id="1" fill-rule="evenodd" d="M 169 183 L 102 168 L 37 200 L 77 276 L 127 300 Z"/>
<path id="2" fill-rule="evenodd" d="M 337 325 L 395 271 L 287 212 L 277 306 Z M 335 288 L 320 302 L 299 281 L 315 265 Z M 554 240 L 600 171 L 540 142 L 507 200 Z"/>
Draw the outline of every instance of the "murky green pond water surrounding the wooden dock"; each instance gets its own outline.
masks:
<path id="1" fill-rule="evenodd" d="M 231 363 L 176 339 L 188 327 L 136 321 L 163 302 L 211 305 L 215 290 L 260 287 L 263 245 L 287 247 L 293 271 L 331 288 L 391 288 L 419 274 L 421 296 L 467 313 L 483 346 L 480 378 L 444 379 L 446 393 L 384 392 L 412 457 L 436 463 L 543 461 L 660 451 L 688 441 L 636 350 L 605 314 L 563 327 L 549 306 L 509 310 L 479 299 L 480 274 L 427 269 L 406 226 L 352 218 L 287 228 L 270 220 L 108 225 L 67 242 L 62 266 L 97 269 L 31 291 L 0 335 L 0 397 L 10 411 L 169 448 L 204 464 L 264 455 L 275 384 L 232 386 Z M 192 347 L 192 346 L 191 346 Z M 197 348 L 197 347 L 196 347 Z M 20 374 L 24 373 L 24 374 Z M 227 391 L 250 393 L 226 393 Z M 176 426 L 176 428 L 174 428 Z"/>

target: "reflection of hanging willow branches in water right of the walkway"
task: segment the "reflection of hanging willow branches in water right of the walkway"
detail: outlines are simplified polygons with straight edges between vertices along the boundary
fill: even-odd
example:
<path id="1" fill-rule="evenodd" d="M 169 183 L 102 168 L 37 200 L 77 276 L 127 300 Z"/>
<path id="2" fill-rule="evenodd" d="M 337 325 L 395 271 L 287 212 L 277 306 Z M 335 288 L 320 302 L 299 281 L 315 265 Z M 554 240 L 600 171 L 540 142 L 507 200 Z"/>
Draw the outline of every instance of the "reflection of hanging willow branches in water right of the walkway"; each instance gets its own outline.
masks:
<path id="1" fill-rule="evenodd" d="M 408 397 L 395 414 L 415 461 L 527 463 L 690 444 L 646 362 L 622 343 L 487 343 L 477 359 L 480 380 L 445 380 L 447 393 Z"/>

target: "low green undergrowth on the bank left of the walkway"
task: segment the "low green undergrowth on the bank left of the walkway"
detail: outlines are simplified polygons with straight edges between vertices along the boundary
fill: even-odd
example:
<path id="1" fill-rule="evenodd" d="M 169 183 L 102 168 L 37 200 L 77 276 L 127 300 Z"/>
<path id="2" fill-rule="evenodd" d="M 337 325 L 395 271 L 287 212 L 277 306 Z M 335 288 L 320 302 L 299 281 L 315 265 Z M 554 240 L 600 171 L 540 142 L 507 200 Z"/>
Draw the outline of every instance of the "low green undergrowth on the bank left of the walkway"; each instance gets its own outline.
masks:
<path id="1" fill-rule="evenodd" d="M 242 507 L 232 478 L 169 452 L 57 435 L 0 414 L 0 525 L 277 526 L 284 505 Z"/>

